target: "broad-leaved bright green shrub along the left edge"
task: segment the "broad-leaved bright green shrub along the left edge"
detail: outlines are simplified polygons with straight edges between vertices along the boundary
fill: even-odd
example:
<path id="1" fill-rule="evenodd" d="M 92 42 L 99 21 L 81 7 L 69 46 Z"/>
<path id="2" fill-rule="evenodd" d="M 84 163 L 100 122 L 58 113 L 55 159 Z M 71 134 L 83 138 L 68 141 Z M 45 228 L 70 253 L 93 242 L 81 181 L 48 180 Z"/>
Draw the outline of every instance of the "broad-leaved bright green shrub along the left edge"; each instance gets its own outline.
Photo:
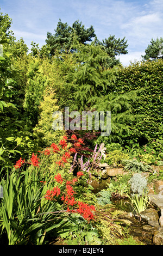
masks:
<path id="1" fill-rule="evenodd" d="M 17 71 L 4 51 L 0 57 L 0 163 L 10 167 L 17 154 L 28 154 L 34 149 L 33 135 L 24 129 L 25 121 L 17 100 Z"/>

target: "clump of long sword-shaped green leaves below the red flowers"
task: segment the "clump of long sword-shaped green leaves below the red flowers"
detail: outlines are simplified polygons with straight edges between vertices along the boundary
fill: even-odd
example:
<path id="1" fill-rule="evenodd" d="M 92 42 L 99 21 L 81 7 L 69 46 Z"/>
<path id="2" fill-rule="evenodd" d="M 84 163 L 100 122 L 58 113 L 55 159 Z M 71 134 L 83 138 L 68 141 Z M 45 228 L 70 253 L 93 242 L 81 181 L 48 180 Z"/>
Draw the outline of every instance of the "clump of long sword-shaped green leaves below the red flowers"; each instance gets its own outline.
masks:
<path id="1" fill-rule="evenodd" d="M 18 170 L 2 180 L 1 228 L 8 245 L 42 245 L 45 234 L 57 227 L 57 221 L 49 221 L 57 208 L 44 199 L 47 185 L 40 185 L 37 169 Z"/>

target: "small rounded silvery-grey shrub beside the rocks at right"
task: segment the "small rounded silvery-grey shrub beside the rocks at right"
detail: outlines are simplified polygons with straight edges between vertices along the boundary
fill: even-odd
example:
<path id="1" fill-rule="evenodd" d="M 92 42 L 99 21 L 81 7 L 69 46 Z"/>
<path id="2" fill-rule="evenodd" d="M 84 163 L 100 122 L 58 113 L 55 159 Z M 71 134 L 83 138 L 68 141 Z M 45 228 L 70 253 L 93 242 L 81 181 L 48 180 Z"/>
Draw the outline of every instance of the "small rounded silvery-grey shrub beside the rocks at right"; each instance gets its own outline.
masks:
<path id="1" fill-rule="evenodd" d="M 147 179 L 141 173 L 135 173 L 129 180 L 131 191 L 134 194 L 142 195 L 143 191 L 147 190 Z"/>

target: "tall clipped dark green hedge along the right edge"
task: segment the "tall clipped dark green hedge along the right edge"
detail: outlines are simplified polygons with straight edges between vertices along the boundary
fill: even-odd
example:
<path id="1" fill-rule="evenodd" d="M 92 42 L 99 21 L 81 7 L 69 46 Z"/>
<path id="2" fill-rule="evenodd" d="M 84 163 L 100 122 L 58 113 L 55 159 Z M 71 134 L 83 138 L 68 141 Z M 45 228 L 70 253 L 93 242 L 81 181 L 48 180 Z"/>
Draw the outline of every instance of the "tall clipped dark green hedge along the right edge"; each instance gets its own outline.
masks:
<path id="1" fill-rule="evenodd" d="M 123 135 L 124 144 L 137 142 L 144 145 L 151 139 L 162 139 L 163 127 L 163 59 L 131 63 L 118 70 L 112 88 L 115 93 L 127 93 L 142 89 L 133 112 L 142 115 L 137 122 L 130 123 L 130 132 Z M 108 92 L 109 93 L 109 92 Z"/>

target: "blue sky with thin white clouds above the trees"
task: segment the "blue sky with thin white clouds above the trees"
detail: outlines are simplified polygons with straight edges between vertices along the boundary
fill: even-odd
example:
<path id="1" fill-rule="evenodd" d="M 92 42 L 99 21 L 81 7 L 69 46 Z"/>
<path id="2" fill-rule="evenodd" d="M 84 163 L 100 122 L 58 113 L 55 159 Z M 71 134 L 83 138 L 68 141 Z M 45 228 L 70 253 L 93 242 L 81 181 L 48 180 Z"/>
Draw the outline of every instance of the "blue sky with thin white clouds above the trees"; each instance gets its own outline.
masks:
<path id="1" fill-rule="evenodd" d="M 16 39 L 30 48 L 32 41 L 46 44 L 47 32 L 54 34 L 59 19 L 72 26 L 76 20 L 91 25 L 99 40 L 126 36 L 128 54 L 123 65 L 140 60 L 151 39 L 163 37 L 163 0 L 1 0 L 1 13 L 12 19 Z"/>

